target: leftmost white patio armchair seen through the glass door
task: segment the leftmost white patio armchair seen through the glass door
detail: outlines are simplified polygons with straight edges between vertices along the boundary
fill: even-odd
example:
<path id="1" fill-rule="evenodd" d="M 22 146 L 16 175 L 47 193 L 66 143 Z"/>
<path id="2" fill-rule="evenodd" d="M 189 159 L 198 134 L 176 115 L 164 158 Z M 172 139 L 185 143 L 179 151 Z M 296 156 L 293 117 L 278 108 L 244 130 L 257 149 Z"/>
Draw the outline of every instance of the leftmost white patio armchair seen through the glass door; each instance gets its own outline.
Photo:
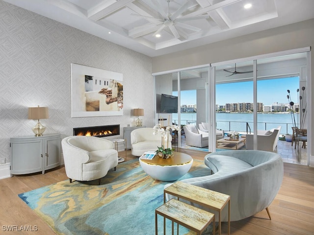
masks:
<path id="1" fill-rule="evenodd" d="M 197 129 L 193 124 L 183 126 L 183 130 L 186 145 L 200 148 L 208 146 L 208 132 Z"/>

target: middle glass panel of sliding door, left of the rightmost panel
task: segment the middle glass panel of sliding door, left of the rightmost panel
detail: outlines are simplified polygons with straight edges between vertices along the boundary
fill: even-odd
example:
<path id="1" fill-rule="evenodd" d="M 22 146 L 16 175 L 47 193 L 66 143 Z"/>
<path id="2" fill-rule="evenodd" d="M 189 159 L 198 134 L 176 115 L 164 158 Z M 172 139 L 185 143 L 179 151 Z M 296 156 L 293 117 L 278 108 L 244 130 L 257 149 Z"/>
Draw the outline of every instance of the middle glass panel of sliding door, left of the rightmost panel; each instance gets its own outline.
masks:
<path id="1" fill-rule="evenodd" d="M 216 67 L 216 129 L 228 136 L 250 134 L 253 129 L 253 62 Z M 226 146 L 228 145 L 228 146 Z M 221 143 L 218 148 L 232 144 Z"/>

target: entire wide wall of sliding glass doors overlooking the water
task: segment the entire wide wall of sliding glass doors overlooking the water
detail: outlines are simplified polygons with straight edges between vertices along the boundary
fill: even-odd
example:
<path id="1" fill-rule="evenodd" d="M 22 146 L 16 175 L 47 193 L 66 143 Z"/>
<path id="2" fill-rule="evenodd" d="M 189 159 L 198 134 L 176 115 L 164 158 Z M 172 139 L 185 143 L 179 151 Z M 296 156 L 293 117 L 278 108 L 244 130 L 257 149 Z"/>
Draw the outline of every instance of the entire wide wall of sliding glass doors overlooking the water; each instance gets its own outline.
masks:
<path id="1" fill-rule="evenodd" d="M 311 146 L 306 141 L 309 54 L 310 48 L 305 47 L 214 63 L 211 67 L 153 74 L 156 124 L 181 125 L 178 145 L 182 148 L 214 152 L 264 150 L 267 145 L 266 151 L 280 153 L 284 161 L 309 164 L 307 155 Z M 162 94 L 177 97 L 175 111 L 161 110 Z M 196 146 L 187 141 L 185 125 L 206 132 L 203 136 L 208 137 L 207 144 Z M 305 130 L 301 147 L 295 146 L 292 127 Z M 278 129 L 278 133 L 273 145 L 262 141 L 274 129 Z M 234 142 L 224 141 L 234 135 L 238 137 Z M 264 137 L 259 139 L 260 136 Z M 290 141 L 289 146 L 287 141 Z M 294 150 L 298 147 L 302 152 L 300 161 L 296 161 Z"/>

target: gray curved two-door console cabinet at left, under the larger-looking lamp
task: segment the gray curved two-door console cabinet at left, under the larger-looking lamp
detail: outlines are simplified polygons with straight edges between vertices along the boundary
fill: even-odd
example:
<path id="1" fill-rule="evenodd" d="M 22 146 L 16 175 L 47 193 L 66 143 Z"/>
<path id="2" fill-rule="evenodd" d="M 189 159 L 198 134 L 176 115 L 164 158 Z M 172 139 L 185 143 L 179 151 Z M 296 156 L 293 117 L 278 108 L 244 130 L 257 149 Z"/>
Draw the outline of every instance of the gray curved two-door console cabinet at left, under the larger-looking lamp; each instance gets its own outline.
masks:
<path id="1" fill-rule="evenodd" d="M 29 174 L 61 164 L 61 135 L 17 137 L 10 139 L 11 174 Z"/>

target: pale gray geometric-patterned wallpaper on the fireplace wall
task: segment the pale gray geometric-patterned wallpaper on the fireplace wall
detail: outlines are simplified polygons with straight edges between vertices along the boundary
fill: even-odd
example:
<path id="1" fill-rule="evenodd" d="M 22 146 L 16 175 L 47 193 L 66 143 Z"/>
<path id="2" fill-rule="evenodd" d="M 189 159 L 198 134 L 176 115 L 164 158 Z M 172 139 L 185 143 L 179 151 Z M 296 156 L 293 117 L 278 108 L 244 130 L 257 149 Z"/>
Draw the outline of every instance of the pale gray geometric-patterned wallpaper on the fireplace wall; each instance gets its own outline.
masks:
<path id="1" fill-rule="evenodd" d="M 124 115 L 71 118 L 71 63 L 123 73 Z M 74 127 L 107 124 L 120 124 L 122 138 L 133 108 L 153 126 L 151 73 L 146 55 L 0 0 L 0 158 L 10 162 L 10 137 L 34 135 L 27 112 L 37 105 L 49 108 L 44 134 L 62 138 Z"/>

